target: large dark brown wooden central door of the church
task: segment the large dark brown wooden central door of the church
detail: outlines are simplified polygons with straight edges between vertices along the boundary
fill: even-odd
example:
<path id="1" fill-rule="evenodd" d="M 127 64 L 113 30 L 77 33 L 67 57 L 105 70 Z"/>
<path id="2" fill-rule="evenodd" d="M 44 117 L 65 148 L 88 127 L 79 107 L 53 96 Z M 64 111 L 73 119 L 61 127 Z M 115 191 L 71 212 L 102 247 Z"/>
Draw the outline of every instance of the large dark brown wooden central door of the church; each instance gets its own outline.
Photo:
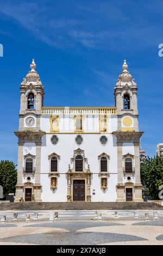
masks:
<path id="1" fill-rule="evenodd" d="M 85 201 L 85 180 L 73 180 L 73 200 Z"/>

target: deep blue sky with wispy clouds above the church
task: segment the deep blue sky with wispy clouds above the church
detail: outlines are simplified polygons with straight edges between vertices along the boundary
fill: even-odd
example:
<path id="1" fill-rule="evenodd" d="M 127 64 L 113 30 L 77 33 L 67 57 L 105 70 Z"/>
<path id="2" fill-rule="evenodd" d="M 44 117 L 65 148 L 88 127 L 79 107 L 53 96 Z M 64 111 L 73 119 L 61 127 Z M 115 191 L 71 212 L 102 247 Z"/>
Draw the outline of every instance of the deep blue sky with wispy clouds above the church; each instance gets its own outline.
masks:
<path id="1" fill-rule="evenodd" d="M 142 147 L 162 138 L 163 2 L 0 0 L 0 159 L 17 162 L 20 83 L 32 58 L 45 106 L 114 106 L 114 86 L 127 59 L 139 87 Z"/>

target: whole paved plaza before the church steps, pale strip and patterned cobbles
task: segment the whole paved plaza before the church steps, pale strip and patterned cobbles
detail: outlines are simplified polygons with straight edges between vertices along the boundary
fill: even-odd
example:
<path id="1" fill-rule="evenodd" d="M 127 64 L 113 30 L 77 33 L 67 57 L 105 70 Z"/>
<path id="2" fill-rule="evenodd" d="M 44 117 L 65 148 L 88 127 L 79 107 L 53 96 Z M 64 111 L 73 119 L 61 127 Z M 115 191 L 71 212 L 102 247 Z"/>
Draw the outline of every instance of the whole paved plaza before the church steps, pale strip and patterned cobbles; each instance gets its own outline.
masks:
<path id="1" fill-rule="evenodd" d="M 13 221 L 15 211 L 1 211 L 7 216 L 0 223 L 0 245 L 163 245 L 163 211 L 148 211 L 149 221 L 145 221 L 147 211 L 101 210 L 102 220 L 95 219 L 95 211 L 74 210 L 59 211 L 59 218 L 49 221 L 53 211 L 38 211 L 38 220 L 34 220 L 34 211 L 18 211 L 17 221 Z M 30 214 L 30 223 L 26 216 Z"/>

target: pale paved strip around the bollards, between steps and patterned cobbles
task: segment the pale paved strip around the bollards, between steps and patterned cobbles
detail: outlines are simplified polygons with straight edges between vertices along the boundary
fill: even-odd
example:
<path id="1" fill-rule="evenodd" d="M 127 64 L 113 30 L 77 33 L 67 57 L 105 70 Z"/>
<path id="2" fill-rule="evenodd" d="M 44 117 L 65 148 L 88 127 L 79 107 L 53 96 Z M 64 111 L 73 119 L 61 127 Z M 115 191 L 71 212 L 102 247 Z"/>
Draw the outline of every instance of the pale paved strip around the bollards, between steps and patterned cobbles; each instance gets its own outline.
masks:
<path id="1" fill-rule="evenodd" d="M 95 218 L 95 210 L 38 210 L 39 220 L 49 220 L 49 214 L 51 212 L 59 212 L 59 219 L 60 220 L 91 220 L 92 218 Z M 25 220 L 27 214 L 31 215 L 31 218 L 34 217 L 35 211 L 0 211 L 0 215 L 6 215 L 7 220 L 11 221 L 13 220 L 13 214 L 14 212 L 18 212 L 18 220 Z M 98 212 L 102 213 L 102 219 L 107 218 L 114 218 L 115 217 L 115 210 L 98 210 Z M 138 216 L 140 219 L 145 218 L 145 213 L 149 213 L 149 218 L 154 218 L 154 211 L 153 210 L 139 210 Z M 163 210 L 157 210 L 158 217 L 163 220 Z M 129 219 L 134 218 L 134 210 L 120 210 L 118 211 L 118 217 L 122 219 Z"/>

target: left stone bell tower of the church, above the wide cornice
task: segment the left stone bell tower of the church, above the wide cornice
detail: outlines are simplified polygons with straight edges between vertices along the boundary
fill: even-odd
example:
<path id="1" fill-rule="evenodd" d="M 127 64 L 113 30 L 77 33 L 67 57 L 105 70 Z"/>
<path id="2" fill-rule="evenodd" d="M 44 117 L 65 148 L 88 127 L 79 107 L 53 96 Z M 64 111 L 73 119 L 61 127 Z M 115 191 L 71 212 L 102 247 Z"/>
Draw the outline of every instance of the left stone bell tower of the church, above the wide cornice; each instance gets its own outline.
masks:
<path id="1" fill-rule="evenodd" d="M 40 81 L 40 76 L 36 71 L 35 60 L 32 60 L 30 64 L 30 71 L 23 78 L 20 87 L 21 92 L 21 103 L 20 103 L 20 122 L 19 130 L 23 131 L 24 127 L 24 117 L 28 114 L 33 114 L 36 118 L 35 130 L 40 130 L 40 116 L 41 107 L 43 107 L 43 96 L 44 87 Z"/>

